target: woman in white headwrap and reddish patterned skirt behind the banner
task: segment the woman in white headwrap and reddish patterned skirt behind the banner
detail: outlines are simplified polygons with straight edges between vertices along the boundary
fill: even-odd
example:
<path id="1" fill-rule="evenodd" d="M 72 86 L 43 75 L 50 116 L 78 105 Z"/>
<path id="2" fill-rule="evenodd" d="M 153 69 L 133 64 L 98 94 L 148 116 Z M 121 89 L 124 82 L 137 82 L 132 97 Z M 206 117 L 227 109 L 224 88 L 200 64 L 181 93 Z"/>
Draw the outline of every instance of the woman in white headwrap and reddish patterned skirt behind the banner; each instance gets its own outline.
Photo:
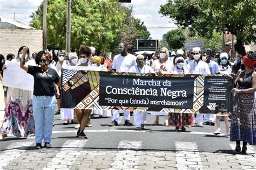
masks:
<path id="1" fill-rule="evenodd" d="M 178 49 L 178 51 L 178 54 L 174 56 L 173 59 L 174 70 L 171 74 L 190 74 L 188 69 L 184 66 L 184 56 L 181 55 L 184 52 L 181 49 Z M 185 126 L 193 125 L 193 114 L 169 113 L 169 125 L 175 126 L 176 132 L 179 132 L 179 129 L 185 132 Z"/>

